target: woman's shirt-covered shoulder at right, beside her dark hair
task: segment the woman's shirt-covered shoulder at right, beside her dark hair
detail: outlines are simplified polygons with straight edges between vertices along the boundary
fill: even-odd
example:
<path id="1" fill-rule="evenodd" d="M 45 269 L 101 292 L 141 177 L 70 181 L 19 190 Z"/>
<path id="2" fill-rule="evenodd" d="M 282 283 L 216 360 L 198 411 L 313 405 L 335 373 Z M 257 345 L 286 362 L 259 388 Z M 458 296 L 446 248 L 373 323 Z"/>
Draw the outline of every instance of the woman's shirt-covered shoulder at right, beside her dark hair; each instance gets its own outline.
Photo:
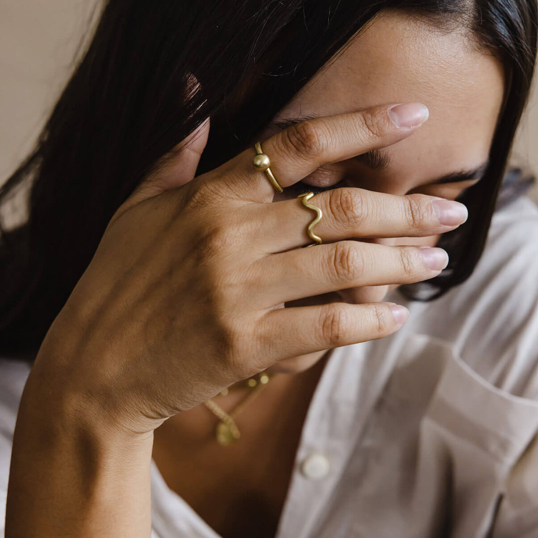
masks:
<path id="1" fill-rule="evenodd" d="M 538 400 L 538 206 L 520 197 L 497 211 L 471 276 L 416 308 L 417 332 L 450 342 L 492 385 Z"/>

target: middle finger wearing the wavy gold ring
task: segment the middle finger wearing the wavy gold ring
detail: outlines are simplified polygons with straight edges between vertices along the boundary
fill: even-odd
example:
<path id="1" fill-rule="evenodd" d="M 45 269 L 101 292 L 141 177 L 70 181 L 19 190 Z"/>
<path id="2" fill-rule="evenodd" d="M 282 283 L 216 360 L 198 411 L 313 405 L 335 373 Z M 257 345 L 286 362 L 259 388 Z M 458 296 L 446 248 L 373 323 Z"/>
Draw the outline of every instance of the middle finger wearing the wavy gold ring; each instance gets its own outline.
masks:
<path id="1" fill-rule="evenodd" d="M 323 243 L 350 238 L 428 237 L 454 230 L 468 217 L 459 202 L 426 194 L 397 196 L 355 187 L 316 194 L 308 200 L 322 211 L 314 233 Z M 300 199 L 257 205 L 256 244 L 265 254 L 312 243 L 307 226 L 315 218 Z"/>

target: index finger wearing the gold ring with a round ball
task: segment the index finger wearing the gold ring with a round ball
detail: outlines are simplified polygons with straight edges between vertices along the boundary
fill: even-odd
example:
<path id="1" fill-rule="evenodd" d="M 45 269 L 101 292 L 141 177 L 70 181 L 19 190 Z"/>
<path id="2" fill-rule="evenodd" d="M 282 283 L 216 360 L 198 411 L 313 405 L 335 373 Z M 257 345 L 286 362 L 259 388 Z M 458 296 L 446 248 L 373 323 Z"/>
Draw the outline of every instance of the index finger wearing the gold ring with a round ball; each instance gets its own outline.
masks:
<path id="1" fill-rule="evenodd" d="M 261 143 L 261 148 L 270 159 L 275 179 L 285 188 L 322 165 L 407 138 L 428 115 L 425 105 L 407 103 L 308 119 L 274 134 Z M 252 147 L 228 162 L 231 174 L 226 174 L 226 186 L 244 200 L 270 202 L 275 190 L 265 172 L 254 168 L 255 155 Z"/>

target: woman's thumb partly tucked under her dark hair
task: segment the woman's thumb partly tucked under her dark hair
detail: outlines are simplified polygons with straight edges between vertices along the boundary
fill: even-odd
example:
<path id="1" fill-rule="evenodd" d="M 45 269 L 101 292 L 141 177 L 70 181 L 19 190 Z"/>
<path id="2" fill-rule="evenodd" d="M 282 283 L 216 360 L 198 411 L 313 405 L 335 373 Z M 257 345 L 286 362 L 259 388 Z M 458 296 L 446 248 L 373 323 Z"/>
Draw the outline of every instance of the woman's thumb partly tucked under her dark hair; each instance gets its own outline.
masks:
<path id="1" fill-rule="evenodd" d="M 122 213 L 148 198 L 157 196 L 194 179 L 200 157 L 209 136 L 209 117 L 189 136 L 164 155 L 154 171 L 147 176 L 122 204 Z"/>

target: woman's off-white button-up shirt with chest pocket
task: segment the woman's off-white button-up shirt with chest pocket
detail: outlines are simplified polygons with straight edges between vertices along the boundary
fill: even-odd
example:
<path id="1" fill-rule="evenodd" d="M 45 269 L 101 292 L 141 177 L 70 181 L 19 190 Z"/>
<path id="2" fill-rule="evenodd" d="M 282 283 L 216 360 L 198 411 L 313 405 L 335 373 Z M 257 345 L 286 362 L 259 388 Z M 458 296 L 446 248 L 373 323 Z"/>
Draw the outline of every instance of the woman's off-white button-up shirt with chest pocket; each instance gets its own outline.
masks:
<path id="1" fill-rule="evenodd" d="M 385 300 L 410 318 L 332 353 L 277 537 L 537 538 L 538 208 L 497 211 L 475 272 L 442 298 Z M 0 360 L 4 503 L 28 371 Z M 219 538 L 151 473 L 152 538 Z"/>

